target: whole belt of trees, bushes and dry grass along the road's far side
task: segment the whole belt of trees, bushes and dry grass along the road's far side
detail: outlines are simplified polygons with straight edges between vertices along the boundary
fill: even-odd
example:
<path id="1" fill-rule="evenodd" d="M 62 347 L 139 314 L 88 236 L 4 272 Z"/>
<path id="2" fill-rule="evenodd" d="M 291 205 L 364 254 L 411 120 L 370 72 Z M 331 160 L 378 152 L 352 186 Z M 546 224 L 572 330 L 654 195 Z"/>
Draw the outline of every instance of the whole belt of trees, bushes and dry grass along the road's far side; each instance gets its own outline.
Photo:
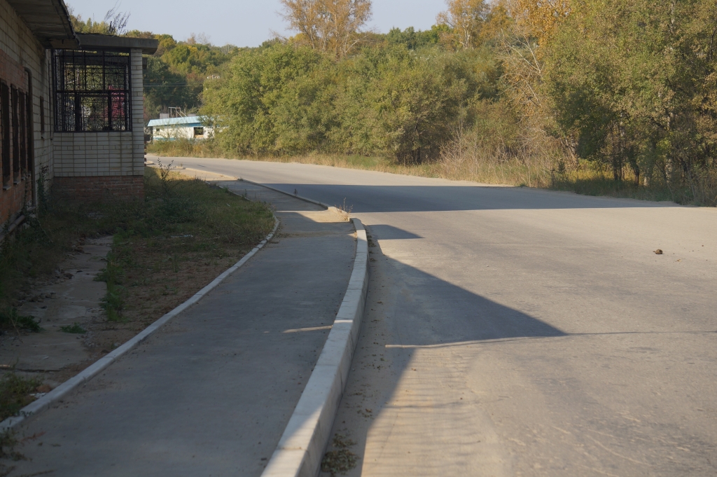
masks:
<path id="1" fill-rule="evenodd" d="M 204 81 L 215 137 L 150 151 L 717 204 L 713 0 L 447 0 L 388 34 L 368 0 L 282 4 L 294 37 Z"/>

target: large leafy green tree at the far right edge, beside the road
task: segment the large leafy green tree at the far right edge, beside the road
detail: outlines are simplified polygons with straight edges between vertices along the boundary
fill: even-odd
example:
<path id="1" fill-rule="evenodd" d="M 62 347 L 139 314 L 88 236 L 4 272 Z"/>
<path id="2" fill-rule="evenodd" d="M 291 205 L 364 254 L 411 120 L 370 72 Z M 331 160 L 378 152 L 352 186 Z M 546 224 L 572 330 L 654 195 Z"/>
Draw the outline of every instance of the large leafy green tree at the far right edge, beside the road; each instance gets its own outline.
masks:
<path id="1" fill-rule="evenodd" d="M 579 156 L 645 182 L 695 184 L 715 166 L 714 2 L 575 4 L 559 28 L 546 86 Z M 696 191 L 695 191 L 696 193 Z"/>

